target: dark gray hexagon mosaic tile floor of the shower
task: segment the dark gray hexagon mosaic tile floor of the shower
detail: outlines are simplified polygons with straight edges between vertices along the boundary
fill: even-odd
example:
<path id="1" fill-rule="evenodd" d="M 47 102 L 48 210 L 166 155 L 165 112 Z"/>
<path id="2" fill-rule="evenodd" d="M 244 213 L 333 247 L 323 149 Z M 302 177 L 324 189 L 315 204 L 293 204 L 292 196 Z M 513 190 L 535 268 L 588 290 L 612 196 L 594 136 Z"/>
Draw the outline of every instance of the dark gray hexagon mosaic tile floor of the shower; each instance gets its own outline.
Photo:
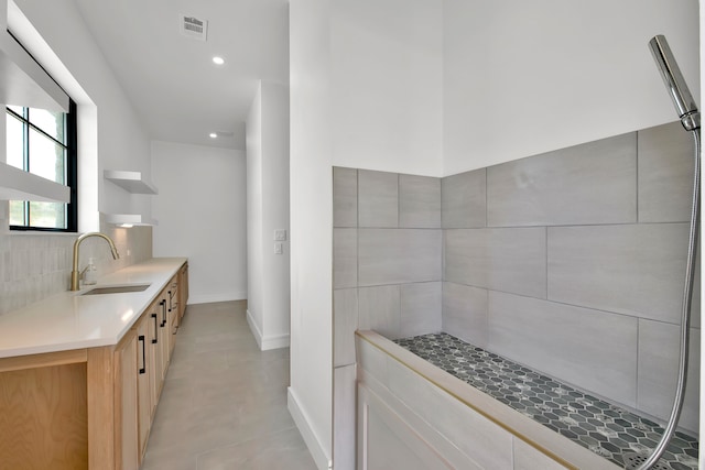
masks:
<path id="1" fill-rule="evenodd" d="M 621 468 L 643 460 L 663 433 L 657 423 L 451 335 L 394 342 Z M 697 448 L 695 437 L 676 431 L 655 469 L 697 469 Z"/>

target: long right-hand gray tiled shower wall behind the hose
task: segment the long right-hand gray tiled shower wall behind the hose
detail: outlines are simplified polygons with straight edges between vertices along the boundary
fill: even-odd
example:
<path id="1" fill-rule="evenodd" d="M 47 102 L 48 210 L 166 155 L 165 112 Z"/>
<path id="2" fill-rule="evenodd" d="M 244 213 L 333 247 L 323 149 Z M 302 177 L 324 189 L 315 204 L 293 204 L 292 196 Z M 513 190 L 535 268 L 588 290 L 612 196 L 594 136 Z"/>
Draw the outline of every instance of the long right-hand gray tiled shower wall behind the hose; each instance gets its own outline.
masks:
<path id="1" fill-rule="evenodd" d="M 671 123 L 443 178 L 443 330 L 668 417 L 693 146 Z M 699 396 L 699 262 L 696 277 L 690 417 L 681 420 L 691 430 Z"/>

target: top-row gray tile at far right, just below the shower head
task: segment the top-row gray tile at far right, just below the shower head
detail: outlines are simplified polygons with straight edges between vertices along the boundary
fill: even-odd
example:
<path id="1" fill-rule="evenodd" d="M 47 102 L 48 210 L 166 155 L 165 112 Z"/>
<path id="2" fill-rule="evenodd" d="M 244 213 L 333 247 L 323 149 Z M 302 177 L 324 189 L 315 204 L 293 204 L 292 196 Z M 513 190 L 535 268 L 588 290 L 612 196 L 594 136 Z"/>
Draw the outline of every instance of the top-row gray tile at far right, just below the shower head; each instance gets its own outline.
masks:
<path id="1" fill-rule="evenodd" d="M 681 122 L 639 134 L 639 221 L 690 220 L 695 144 Z"/>

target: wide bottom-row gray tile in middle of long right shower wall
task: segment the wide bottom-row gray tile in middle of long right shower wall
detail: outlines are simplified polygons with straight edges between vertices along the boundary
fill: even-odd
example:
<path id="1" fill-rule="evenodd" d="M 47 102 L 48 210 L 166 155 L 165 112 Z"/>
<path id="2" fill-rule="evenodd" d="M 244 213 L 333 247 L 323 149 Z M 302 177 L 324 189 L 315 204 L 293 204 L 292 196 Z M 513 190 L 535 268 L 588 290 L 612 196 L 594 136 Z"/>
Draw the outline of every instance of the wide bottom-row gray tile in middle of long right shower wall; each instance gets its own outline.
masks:
<path id="1" fill-rule="evenodd" d="M 637 324 L 625 315 L 490 292 L 488 349 L 636 406 Z"/>

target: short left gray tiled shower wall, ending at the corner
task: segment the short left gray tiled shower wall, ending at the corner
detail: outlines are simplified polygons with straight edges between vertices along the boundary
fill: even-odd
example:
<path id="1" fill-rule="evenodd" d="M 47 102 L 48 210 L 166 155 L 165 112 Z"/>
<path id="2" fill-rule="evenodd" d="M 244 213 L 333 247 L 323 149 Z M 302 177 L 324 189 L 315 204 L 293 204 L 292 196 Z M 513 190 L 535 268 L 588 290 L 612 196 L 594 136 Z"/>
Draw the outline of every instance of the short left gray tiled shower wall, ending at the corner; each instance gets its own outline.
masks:
<path id="1" fill-rule="evenodd" d="M 441 178 L 333 168 L 336 469 L 356 468 L 345 450 L 355 436 L 355 330 L 441 331 Z"/>

